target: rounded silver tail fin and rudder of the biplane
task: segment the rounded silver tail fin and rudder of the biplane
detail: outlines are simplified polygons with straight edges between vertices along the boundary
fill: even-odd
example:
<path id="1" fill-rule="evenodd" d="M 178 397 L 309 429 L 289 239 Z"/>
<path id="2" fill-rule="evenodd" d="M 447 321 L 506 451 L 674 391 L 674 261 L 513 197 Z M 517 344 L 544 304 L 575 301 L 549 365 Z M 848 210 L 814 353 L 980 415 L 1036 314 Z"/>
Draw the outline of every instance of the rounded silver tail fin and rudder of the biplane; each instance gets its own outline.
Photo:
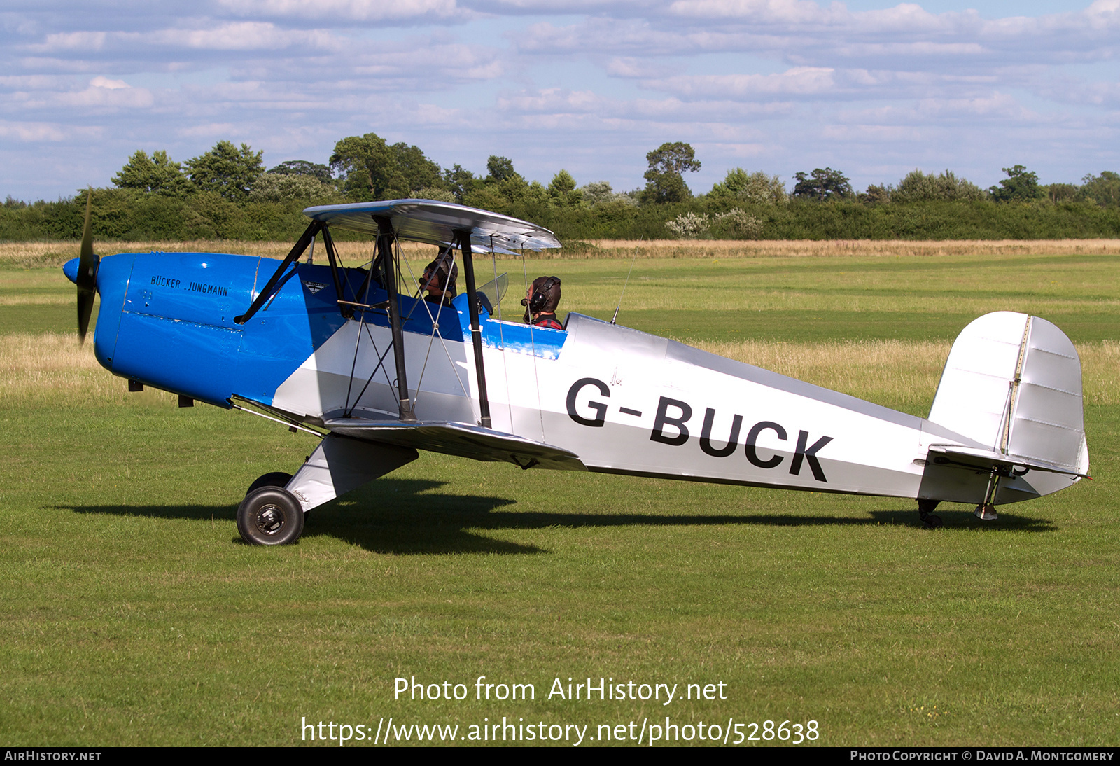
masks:
<path id="1" fill-rule="evenodd" d="M 1025 465 L 1089 470 L 1081 359 L 1070 338 L 1038 317 L 987 314 L 949 353 L 930 420 Z"/>

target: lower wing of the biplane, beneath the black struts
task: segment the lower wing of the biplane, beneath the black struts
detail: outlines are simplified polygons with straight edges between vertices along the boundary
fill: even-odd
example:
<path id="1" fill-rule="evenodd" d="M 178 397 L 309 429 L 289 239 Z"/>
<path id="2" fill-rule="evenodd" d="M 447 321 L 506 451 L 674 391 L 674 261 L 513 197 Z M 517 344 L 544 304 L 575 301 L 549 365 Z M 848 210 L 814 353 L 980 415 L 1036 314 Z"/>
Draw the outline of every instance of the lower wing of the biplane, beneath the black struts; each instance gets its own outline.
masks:
<path id="1" fill-rule="evenodd" d="M 326 421 L 324 426 L 335 433 L 355 439 L 427 449 L 473 460 L 505 461 L 522 468 L 587 470 L 579 456 L 567 449 L 469 423 L 338 418 Z"/>

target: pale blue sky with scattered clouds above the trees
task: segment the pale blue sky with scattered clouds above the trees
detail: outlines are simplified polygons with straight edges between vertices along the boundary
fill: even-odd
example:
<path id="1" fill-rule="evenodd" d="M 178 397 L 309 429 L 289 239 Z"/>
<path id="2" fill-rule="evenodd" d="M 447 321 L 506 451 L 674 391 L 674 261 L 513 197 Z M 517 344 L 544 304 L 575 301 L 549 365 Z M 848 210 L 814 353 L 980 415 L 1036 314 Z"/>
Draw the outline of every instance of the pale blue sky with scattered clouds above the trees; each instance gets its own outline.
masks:
<path id="1" fill-rule="evenodd" d="M 110 185 L 137 149 L 326 162 L 375 132 L 445 167 L 643 184 L 688 141 L 728 169 L 857 188 L 1120 169 L 1120 0 L 8 0 L 0 196 Z"/>

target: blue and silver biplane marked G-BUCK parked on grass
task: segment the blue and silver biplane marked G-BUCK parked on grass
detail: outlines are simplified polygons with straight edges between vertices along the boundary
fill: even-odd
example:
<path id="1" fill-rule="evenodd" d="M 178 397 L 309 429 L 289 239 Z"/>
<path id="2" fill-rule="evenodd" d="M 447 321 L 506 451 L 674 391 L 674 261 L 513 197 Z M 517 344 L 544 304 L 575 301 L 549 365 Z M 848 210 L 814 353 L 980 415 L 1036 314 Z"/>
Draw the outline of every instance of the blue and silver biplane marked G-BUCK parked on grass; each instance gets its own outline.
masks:
<path id="1" fill-rule="evenodd" d="M 977 504 L 995 519 L 996 505 L 1089 470 L 1081 362 L 1045 319 L 999 311 L 965 327 L 923 419 L 576 312 L 563 329 L 492 316 L 502 280 L 477 287 L 475 256 L 560 246 L 524 221 L 424 199 L 305 214 L 310 225 L 280 262 L 99 260 L 87 209 L 82 256 L 65 267 L 80 334 L 96 291 L 97 361 L 131 390 L 255 411 L 320 437 L 293 476 L 265 474 L 249 488 L 237 510 L 249 543 L 296 541 L 306 512 L 418 449 L 522 468 L 912 497 L 927 526 L 941 524 L 939 502 Z M 368 267 L 342 265 L 336 230 L 376 237 Z M 317 237 L 327 263 L 302 262 Z M 402 241 L 458 262 L 466 292 L 444 306 L 402 290 Z"/>

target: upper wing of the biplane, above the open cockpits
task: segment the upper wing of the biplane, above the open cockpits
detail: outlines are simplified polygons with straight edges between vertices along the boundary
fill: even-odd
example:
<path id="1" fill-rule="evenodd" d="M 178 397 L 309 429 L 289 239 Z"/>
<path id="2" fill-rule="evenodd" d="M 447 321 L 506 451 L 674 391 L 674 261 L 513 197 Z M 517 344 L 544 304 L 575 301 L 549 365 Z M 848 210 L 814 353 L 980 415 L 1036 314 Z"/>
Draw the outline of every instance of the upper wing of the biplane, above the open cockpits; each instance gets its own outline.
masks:
<path id="1" fill-rule="evenodd" d="M 352 205 L 318 205 L 304 215 L 338 228 L 376 235 L 373 216 L 386 216 L 399 240 L 447 246 L 456 232 L 470 232 L 472 249 L 500 253 L 517 250 L 559 247 L 560 241 L 547 228 L 501 213 L 432 199 L 390 199 Z"/>

